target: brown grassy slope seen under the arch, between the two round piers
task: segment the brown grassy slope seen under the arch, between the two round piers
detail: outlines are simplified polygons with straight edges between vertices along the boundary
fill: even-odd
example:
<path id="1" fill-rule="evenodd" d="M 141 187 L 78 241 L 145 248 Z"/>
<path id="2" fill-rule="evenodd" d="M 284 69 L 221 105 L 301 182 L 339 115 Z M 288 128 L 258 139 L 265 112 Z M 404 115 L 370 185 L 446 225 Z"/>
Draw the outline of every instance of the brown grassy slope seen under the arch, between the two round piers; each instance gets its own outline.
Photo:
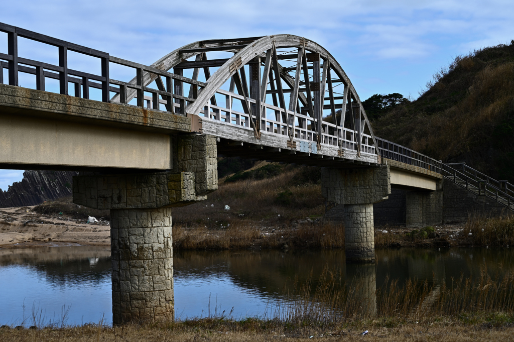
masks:
<path id="1" fill-rule="evenodd" d="M 264 221 L 270 225 L 320 217 L 325 203 L 321 187 L 313 183 L 296 185 L 301 172 L 293 169 L 259 181 L 222 182 L 206 201 L 174 209 L 173 220 L 187 226 L 219 228 L 233 220 Z M 226 205 L 229 211 L 224 210 Z"/>

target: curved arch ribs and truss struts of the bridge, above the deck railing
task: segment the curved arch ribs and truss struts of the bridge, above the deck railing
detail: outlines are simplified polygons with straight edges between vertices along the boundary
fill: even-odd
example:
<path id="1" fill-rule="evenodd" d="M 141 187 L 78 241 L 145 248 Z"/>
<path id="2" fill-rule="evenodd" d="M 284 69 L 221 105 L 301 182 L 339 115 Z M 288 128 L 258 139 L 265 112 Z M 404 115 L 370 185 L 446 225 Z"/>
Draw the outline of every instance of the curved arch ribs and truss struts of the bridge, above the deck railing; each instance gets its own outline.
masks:
<path id="1" fill-rule="evenodd" d="M 279 56 L 277 55 L 277 48 L 296 48 L 298 49 L 297 55 L 300 55 L 297 59 L 297 68 L 295 77 L 292 77 L 287 73 L 286 68 L 284 68 L 278 61 Z M 251 100 L 251 94 L 248 90 L 248 85 L 245 84 L 245 78 L 240 74 L 241 68 L 243 68 L 247 64 L 258 64 L 259 68 L 261 65 L 264 65 L 264 75 L 263 78 L 265 80 L 262 81 L 262 84 L 259 84 L 258 87 L 260 90 L 260 97 L 262 102 L 266 101 L 266 95 L 262 96 L 262 93 L 266 91 L 266 88 L 269 83 L 271 83 L 268 76 L 268 73 L 277 73 L 280 75 L 281 80 L 287 84 L 291 89 L 288 91 L 291 94 L 289 104 L 294 103 L 293 106 L 289 106 L 289 108 L 285 107 L 283 94 L 280 94 L 282 98 L 279 96 L 280 106 L 283 107 L 285 113 L 289 110 L 289 114 L 291 112 L 299 112 L 300 109 L 297 106 L 298 101 L 300 101 L 305 107 L 306 112 L 313 117 L 314 123 L 317 126 L 316 131 L 318 131 L 317 136 L 321 135 L 321 121 L 323 117 L 324 107 L 330 107 L 332 120 L 336 127 L 340 128 L 350 128 L 354 130 L 356 133 L 359 131 L 360 139 L 362 139 L 362 133 L 364 130 L 367 130 L 368 134 L 371 136 L 370 145 L 374 145 L 377 147 L 377 143 L 375 140 L 375 136 L 373 134 L 373 129 L 371 124 L 366 116 L 364 108 L 362 107 L 360 98 L 355 91 L 355 88 L 344 72 L 341 65 L 337 62 L 337 60 L 329 53 L 325 48 L 321 45 L 317 44 L 314 41 L 305 39 L 303 37 L 298 37 L 296 35 L 291 34 L 278 34 L 278 35 L 269 35 L 266 37 L 256 37 L 256 38 L 242 38 L 242 39 L 230 39 L 230 40 L 208 40 L 208 41 L 198 41 L 191 44 L 184 45 L 174 51 L 170 52 L 168 55 L 162 57 L 151 66 L 156 67 L 163 71 L 168 71 L 174 69 L 175 73 L 177 71 L 182 74 L 182 68 L 180 67 L 183 62 L 188 63 L 188 59 L 195 58 L 195 62 L 204 62 L 203 65 L 208 65 L 206 52 L 207 51 L 225 51 L 225 52 L 233 52 L 234 55 L 224 61 L 222 65 L 217 65 L 219 68 L 214 72 L 214 74 L 206 75 L 206 83 L 207 86 L 202 87 L 198 90 L 196 94 L 196 98 L 194 102 L 189 102 L 187 107 L 185 108 L 186 113 L 188 114 L 198 114 L 203 109 L 206 103 L 210 101 L 210 99 L 214 98 L 216 92 L 221 89 L 221 87 L 230 79 L 232 79 L 231 86 L 236 86 L 239 95 L 243 95 L 245 101 L 242 101 L 243 107 L 246 114 L 250 114 L 250 117 L 253 119 L 251 122 L 252 127 L 254 128 L 256 137 L 259 136 L 260 131 L 260 120 L 259 117 L 256 116 L 257 113 L 252 113 L 251 111 L 251 103 L 248 100 Z M 318 101 L 318 110 L 316 108 L 313 109 L 313 106 L 316 106 L 317 100 L 313 93 L 316 92 L 316 88 L 313 82 L 306 82 L 306 78 L 316 78 L 315 67 L 307 67 L 307 59 L 309 57 L 307 54 L 315 55 L 318 54 L 318 84 L 320 84 L 320 90 L 318 90 L 318 94 L 320 94 L 320 99 Z M 258 59 L 256 61 L 256 59 Z M 310 58 L 312 59 L 312 58 Z M 309 59 L 309 60 L 310 60 Z M 323 61 L 323 64 L 321 64 Z M 276 62 L 276 65 L 274 63 Z M 314 57 L 314 62 L 316 62 L 316 57 Z M 192 62 L 189 62 L 192 63 Z M 179 67 L 178 69 L 176 69 Z M 277 69 L 275 70 L 274 67 Z M 191 66 L 189 66 L 191 68 Z M 196 75 L 193 78 L 197 78 L 198 69 L 201 67 L 197 67 L 195 70 Z M 204 66 L 204 70 L 205 70 Z M 209 66 L 207 66 L 207 69 Z M 313 76 L 308 75 L 307 68 L 313 69 Z M 292 69 L 292 68 L 288 68 Z M 321 70 L 320 70 L 321 69 Z M 302 82 L 304 89 L 300 89 L 300 75 L 298 74 L 304 73 L 304 81 Z M 339 116 L 339 120 L 336 115 L 336 106 L 335 106 L 335 97 L 333 91 L 333 76 L 332 73 L 335 73 L 338 79 L 337 82 L 341 82 L 344 84 L 344 95 L 342 104 L 339 104 L 341 109 L 341 115 Z M 259 73 L 260 74 L 260 73 Z M 242 77 L 243 76 L 243 77 Z M 259 75 L 260 78 L 261 75 Z M 159 76 L 145 72 L 143 75 L 143 83 L 144 86 L 148 86 L 153 81 L 156 81 Z M 269 83 L 268 83 L 269 80 Z M 314 80 L 316 81 L 316 80 Z M 132 80 L 132 83 L 135 83 L 136 79 Z M 251 80 L 250 80 L 251 82 Z M 281 87 L 282 82 L 277 82 L 276 87 Z M 325 88 L 327 86 L 327 88 Z M 310 88 L 310 89 L 309 89 Z M 235 89 L 231 89 L 235 91 Z M 277 89 L 279 93 L 282 89 Z M 330 104 L 325 105 L 325 92 L 329 93 L 329 101 Z M 136 92 L 132 91 L 127 94 L 128 100 L 134 98 L 136 96 Z M 190 96 L 191 97 L 191 91 Z M 340 100 L 340 99 L 339 99 Z M 117 94 L 112 99 L 113 102 L 119 101 L 119 94 Z M 254 99 L 255 103 L 258 103 L 257 99 Z M 314 104 L 313 104 L 314 102 Z M 261 112 L 262 109 L 257 109 L 254 106 L 254 111 Z M 339 108 L 338 108 L 339 109 Z M 317 112 L 317 113 L 316 113 Z M 346 114 L 348 112 L 349 115 Z M 183 113 L 185 114 L 185 113 Z M 261 114 L 261 113 L 259 113 Z M 317 115 L 316 115 L 317 114 Z M 206 115 L 207 116 L 207 115 Z M 347 120 L 350 117 L 350 120 Z M 345 127 L 345 118 L 348 121 L 350 127 Z M 359 118 L 359 119 L 357 119 Z M 357 119 L 357 120 L 356 120 Z M 285 120 L 291 120 L 291 118 L 285 118 Z M 292 118 L 292 121 L 295 119 Z M 293 122 L 290 122 L 292 125 Z M 292 139 L 292 134 L 291 139 Z M 357 142 L 357 137 L 355 137 L 355 141 Z M 319 142 L 319 140 L 318 140 Z M 360 141 L 359 144 L 360 145 Z"/>

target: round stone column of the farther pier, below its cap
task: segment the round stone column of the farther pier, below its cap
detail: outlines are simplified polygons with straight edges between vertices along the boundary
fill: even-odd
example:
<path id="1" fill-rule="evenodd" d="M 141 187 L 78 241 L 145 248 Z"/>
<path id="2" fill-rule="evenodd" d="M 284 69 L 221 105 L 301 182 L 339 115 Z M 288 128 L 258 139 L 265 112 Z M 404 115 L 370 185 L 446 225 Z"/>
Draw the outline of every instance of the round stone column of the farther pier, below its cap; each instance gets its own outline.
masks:
<path id="1" fill-rule="evenodd" d="M 344 205 L 346 262 L 374 262 L 373 204 Z"/>

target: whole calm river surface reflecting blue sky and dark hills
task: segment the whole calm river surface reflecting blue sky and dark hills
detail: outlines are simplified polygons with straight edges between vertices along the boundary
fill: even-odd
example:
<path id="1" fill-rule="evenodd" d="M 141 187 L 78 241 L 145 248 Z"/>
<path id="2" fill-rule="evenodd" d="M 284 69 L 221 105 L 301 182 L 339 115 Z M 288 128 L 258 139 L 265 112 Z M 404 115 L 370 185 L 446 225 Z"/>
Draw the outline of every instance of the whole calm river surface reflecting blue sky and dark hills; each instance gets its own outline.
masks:
<path id="1" fill-rule="evenodd" d="M 375 292 L 386 279 L 436 285 L 430 295 L 436 298 L 439 284 L 478 277 L 484 267 L 491 276 L 501 276 L 512 271 L 513 259 L 510 249 L 485 248 L 377 250 L 377 262 L 371 265 L 346 265 L 342 250 L 181 251 L 174 255 L 175 313 L 183 319 L 233 308 L 235 318 L 269 317 L 295 283 L 311 279 L 314 292 L 326 269 L 341 291 L 357 298 L 361 313 L 373 316 Z M 24 315 L 30 316 L 32 303 L 54 320 L 63 305 L 71 305 L 69 324 L 98 322 L 102 316 L 112 320 L 107 248 L 0 249 L 0 279 L 0 325 L 21 323 Z"/>

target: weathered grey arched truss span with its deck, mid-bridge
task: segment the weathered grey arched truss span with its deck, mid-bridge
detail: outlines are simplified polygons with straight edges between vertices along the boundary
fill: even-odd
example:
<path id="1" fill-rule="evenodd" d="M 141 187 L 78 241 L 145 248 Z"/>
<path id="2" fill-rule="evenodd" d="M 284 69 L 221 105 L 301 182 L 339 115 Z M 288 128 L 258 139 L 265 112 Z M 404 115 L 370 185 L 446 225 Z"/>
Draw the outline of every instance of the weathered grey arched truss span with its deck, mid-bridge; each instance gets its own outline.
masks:
<path id="1" fill-rule="evenodd" d="M 200 41 L 152 67 L 179 77 L 189 71 L 191 77 L 166 86 L 166 75 L 149 70 L 130 84 L 153 84 L 160 93 L 147 99 L 149 106 L 191 116 L 199 122 L 198 131 L 201 127 L 202 133 L 226 139 L 218 144 L 222 155 L 265 153 L 275 159 L 272 152 L 285 152 L 281 160 L 300 164 L 379 163 L 373 131 L 352 83 L 313 41 L 289 34 Z M 146 90 L 128 89 L 111 101 L 128 103 Z"/>

